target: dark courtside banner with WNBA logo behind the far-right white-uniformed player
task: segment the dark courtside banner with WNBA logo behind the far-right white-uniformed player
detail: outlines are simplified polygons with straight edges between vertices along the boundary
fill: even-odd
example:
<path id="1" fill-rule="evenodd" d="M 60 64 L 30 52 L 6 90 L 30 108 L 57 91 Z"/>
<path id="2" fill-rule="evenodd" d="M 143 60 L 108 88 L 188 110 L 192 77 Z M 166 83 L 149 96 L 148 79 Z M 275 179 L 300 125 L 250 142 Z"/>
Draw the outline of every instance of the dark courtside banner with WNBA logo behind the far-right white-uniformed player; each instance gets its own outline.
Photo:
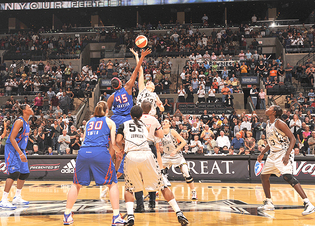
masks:
<path id="1" fill-rule="evenodd" d="M 299 181 L 313 181 L 315 178 L 315 159 L 314 160 L 300 160 L 303 158 L 299 158 L 299 160 L 294 161 L 293 163 L 293 175 Z M 252 181 L 260 181 L 260 173 L 262 171 L 262 167 L 264 166 L 264 162 L 262 161 L 262 166 L 258 166 L 258 162 L 256 160 L 250 160 L 250 168 L 251 168 L 251 180 Z M 282 177 L 273 177 L 272 180 L 283 182 Z"/>

